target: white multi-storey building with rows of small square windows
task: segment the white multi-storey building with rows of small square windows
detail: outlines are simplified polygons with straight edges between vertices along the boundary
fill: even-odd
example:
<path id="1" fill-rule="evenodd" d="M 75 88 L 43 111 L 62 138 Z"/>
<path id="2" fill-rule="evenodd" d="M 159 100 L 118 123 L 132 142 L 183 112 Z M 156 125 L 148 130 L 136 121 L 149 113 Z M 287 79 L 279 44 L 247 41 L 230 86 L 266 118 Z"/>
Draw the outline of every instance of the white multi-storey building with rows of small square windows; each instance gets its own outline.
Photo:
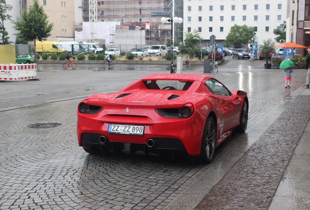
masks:
<path id="1" fill-rule="evenodd" d="M 287 10 L 287 0 L 184 0 L 183 30 L 198 30 L 203 45 L 209 45 L 210 36 L 215 35 L 216 43 L 222 45 L 234 24 L 247 25 L 256 29 L 258 44 L 262 44 L 264 39 L 274 40 L 273 29 L 287 20 Z"/>

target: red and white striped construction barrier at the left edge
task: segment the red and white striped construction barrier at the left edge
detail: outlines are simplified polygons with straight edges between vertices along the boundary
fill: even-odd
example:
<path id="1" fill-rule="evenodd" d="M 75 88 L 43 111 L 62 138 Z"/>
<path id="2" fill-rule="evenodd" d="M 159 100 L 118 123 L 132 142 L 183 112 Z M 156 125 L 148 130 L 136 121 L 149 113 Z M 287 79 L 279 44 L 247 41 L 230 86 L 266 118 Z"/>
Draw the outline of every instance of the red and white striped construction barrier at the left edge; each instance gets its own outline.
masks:
<path id="1" fill-rule="evenodd" d="M 37 79 L 37 64 L 0 64 L 0 80 Z"/>

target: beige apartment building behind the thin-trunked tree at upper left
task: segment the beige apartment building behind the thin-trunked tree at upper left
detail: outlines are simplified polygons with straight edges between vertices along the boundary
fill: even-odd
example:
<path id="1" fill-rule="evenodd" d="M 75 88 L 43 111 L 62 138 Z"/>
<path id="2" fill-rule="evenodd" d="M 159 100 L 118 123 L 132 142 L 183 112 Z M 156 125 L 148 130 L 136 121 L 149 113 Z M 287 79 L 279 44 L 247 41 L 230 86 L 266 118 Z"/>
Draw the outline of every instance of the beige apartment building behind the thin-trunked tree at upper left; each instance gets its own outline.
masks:
<path id="1" fill-rule="evenodd" d="M 33 3 L 28 0 L 27 6 Z M 75 36 L 75 0 L 39 0 L 49 23 L 54 23 L 51 36 L 47 41 L 74 40 Z"/>

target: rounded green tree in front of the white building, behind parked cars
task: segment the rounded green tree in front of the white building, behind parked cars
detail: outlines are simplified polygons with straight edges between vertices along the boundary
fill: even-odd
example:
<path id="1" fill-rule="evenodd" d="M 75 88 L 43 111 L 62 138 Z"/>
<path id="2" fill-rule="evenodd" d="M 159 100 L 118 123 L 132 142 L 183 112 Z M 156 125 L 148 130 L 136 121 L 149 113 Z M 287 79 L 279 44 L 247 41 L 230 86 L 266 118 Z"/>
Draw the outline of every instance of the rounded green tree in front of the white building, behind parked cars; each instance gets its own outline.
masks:
<path id="1" fill-rule="evenodd" d="M 252 43 L 255 29 L 252 26 L 234 24 L 224 41 L 225 47 L 241 48 L 244 44 Z"/>

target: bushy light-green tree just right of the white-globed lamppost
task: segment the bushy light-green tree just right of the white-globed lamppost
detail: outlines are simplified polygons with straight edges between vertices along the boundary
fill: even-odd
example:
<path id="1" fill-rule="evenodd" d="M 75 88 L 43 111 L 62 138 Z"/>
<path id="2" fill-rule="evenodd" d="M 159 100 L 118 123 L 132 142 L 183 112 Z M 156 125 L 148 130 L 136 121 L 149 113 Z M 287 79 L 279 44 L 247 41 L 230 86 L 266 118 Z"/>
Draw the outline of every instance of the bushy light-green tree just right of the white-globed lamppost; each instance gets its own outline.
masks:
<path id="1" fill-rule="evenodd" d="M 200 42 L 203 40 L 197 30 L 185 32 L 184 43 L 179 46 L 180 53 L 188 54 L 191 58 L 200 54 Z M 198 53 L 197 53 L 198 52 Z"/>

